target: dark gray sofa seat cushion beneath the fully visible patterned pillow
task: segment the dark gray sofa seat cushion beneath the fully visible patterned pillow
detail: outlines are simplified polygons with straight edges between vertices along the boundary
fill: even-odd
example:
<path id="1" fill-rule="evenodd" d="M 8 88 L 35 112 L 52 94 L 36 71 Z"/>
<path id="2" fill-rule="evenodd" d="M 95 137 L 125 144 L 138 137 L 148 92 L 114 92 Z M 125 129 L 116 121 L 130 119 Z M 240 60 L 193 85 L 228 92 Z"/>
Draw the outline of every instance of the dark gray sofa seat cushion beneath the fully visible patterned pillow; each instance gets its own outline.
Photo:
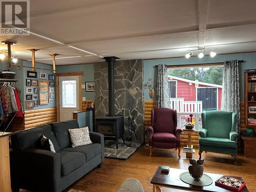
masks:
<path id="1" fill-rule="evenodd" d="M 92 160 L 97 155 L 101 154 L 101 145 L 99 143 L 92 143 L 88 145 L 82 145 L 77 147 L 68 147 L 63 149 L 62 151 L 67 152 L 79 152 L 86 155 L 86 162 Z"/>

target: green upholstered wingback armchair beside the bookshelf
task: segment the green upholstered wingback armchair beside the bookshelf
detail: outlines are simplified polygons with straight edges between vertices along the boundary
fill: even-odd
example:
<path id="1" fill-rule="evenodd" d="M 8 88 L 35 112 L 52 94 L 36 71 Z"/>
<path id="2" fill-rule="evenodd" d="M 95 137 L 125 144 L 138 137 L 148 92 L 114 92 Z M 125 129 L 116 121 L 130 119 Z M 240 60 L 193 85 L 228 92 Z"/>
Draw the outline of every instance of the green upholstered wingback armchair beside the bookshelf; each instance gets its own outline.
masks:
<path id="1" fill-rule="evenodd" d="M 205 152 L 229 154 L 237 164 L 237 114 L 228 111 L 203 111 L 199 131 L 199 159 Z"/>

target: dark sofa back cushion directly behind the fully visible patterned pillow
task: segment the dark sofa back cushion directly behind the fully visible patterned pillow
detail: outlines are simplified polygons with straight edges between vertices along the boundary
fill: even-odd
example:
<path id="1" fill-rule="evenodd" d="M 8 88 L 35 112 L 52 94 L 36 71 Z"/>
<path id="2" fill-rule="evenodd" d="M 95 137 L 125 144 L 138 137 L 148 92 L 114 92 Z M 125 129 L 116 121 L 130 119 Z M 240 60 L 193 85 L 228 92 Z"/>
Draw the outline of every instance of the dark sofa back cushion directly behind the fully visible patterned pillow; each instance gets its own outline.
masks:
<path id="1" fill-rule="evenodd" d="M 68 130 L 79 128 L 77 120 L 55 122 L 51 123 L 51 125 L 53 126 L 56 138 L 60 146 L 60 150 L 63 150 L 63 148 L 70 147 L 71 141 Z"/>

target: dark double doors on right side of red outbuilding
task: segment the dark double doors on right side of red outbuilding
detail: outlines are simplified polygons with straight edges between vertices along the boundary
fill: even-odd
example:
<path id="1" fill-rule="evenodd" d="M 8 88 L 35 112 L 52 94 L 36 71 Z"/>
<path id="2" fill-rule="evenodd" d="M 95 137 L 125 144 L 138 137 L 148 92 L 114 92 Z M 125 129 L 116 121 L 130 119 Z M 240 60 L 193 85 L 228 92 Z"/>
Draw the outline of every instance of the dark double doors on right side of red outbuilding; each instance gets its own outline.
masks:
<path id="1" fill-rule="evenodd" d="M 202 101 L 203 110 L 217 110 L 217 88 L 197 88 L 197 100 Z"/>

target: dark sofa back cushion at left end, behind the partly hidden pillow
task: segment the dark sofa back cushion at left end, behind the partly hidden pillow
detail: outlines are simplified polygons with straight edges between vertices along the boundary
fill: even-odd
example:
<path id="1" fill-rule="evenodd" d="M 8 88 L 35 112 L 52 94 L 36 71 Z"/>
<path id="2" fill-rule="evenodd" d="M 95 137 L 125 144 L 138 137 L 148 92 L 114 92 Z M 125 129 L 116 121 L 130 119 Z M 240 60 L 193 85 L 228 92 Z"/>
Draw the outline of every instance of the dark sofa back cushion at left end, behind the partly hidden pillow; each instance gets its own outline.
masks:
<path id="1" fill-rule="evenodd" d="M 41 125 L 29 130 L 15 132 L 11 136 L 12 148 L 15 150 L 23 150 L 28 147 L 41 148 L 42 135 L 52 141 L 56 152 L 60 150 L 51 125 Z"/>

